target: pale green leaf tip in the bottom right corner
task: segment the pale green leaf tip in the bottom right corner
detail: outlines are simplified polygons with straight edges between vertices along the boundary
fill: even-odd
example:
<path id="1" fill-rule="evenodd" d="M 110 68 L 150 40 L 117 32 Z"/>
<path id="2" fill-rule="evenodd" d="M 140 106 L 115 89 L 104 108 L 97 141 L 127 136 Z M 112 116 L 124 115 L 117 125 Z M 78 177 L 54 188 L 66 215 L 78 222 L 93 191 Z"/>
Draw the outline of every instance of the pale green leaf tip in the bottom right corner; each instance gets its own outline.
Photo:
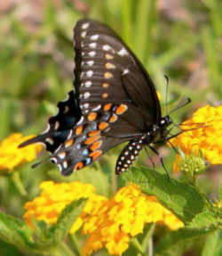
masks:
<path id="1" fill-rule="evenodd" d="M 221 255 L 219 254 L 219 250 L 221 251 L 221 236 L 221 230 L 208 235 L 202 250 L 202 256 Z"/>

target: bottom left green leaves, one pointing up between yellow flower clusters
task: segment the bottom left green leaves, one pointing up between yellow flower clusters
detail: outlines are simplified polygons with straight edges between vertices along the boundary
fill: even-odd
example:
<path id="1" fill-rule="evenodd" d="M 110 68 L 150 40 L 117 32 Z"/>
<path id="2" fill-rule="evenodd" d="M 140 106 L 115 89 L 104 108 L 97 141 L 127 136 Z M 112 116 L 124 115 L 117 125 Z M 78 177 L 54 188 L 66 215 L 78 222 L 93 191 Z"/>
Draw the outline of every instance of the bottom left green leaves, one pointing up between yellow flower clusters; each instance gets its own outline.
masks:
<path id="1" fill-rule="evenodd" d="M 13 244 L 24 252 L 37 253 L 38 255 L 74 255 L 67 249 L 62 240 L 67 236 L 70 227 L 83 210 L 81 199 L 70 203 L 61 212 L 55 225 L 48 227 L 44 221 L 33 220 L 35 227 L 35 238 L 33 231 L 20 219 L 4 213 L 0 214 L 0 239 L 6 243 Z M 55 254 L 52 254 L 55 253 Z M 58 253 L 58 254 L 57 254 Z"/>

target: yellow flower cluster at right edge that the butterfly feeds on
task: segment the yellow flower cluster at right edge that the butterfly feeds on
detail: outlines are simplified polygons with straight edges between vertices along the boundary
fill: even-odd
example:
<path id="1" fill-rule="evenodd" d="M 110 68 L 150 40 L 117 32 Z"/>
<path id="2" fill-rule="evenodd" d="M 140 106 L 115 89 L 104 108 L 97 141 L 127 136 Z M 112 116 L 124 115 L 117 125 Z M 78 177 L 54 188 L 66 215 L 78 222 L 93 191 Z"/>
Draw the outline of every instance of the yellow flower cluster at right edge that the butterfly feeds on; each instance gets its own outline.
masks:
<path id="1" fill-rule="evenodd" d="M 201 150 L 202 156 L 211 164 L 222 163 L 222 106 L 202 107 L 180 128 L 189 131 L 172 138 L 172 145 L 178 146 L 187 155 L 194 153 L 198 156 Z"/>

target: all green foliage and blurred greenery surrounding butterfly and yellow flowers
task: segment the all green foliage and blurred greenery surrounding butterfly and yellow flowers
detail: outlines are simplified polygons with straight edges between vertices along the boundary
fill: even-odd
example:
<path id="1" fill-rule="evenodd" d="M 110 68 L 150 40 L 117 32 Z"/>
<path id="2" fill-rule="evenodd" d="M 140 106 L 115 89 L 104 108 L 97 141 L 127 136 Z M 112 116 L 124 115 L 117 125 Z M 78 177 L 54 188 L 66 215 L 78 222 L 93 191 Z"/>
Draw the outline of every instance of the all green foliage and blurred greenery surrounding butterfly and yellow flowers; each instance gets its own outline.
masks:
<path id="1" fill-rule="evenodd" d="M 164 74 L 170 78 L 170 109 L 179 99 L 192 98 L 192 104 L 172 114 L 175 123 L 184 120 L 200 104 L 220 103 L 221 1 L 187 1 L 186 6 L 180 4 L 185 1 L 175 1 L 178 2 L 175 6 L 163 6 L 164 1 L 152 0 L 79 0 L 61 1 L 59 7 L 52 0 L 44 2 L 43 11 L 33 6 L 27 9 L 27 3 L 0 11 L 1 139 L 14 132 L 28 135 L 44 130 L 47 118 L 56 112 L 56 103 L 72 89 L 72 31 L 75 22 L 85 15 L 106 22 L 131 46 L 154 79 L 163 105 Z M 24 10 L 32 12 L 21 19 Z M 163 148 L 160 151 L 166 154 L 164 163 L 170 170 L 173 152 Z M 176 232 L 146 227 L 124 255 L 146 252 L 149 256 L 182 256 L 187 250 L 192 255 L 222 255 L 222 211 L 218 209 L 222 188 L 218 191 L 221 174 L 216 173 L 216 167 L 206 170 L 201 178 L 196 177 L 192 184 L 189 179 L 182 181 L 171 174 L 169 180 L 161 172 L 144 167 L 132 168 L 123 177 L 115 178 L 117 152 L 115 149 L 107 153 L 104 161 L 69 178 L 61 177 L 52 164 L 43 164 L 38 169 L 27 164 L 20 167 L 19 173 L 1 177 L 0 254 L 80 255 L 83 235 L 77 233 L 75 239 L 69 236 L 67 243 L 67 232 L 81 212 L 82 201 L 67 206 L 57 225 L 49 227 L 34 219 L 35 231 L 22 219 L 24 203 L 39 194 L 39 184 L 46 179 L 91 183 L 98 194 L 106 196 L 124 186 L 127 179 L 139 184 L 144 193 L 155 194 L 186 227 Z M 138 163 L 147 163 L 147 155 L 140 155 Z M 194 166 L 191 164 L 189 168 Z M 161 167 L 156 164 L 155 169 Z M 210 202 L 212 198 L 218 207 Z M 157 241 L 153 254 L 152 237 Z M 107 254 L 101 251 L 99 255 Z"/>

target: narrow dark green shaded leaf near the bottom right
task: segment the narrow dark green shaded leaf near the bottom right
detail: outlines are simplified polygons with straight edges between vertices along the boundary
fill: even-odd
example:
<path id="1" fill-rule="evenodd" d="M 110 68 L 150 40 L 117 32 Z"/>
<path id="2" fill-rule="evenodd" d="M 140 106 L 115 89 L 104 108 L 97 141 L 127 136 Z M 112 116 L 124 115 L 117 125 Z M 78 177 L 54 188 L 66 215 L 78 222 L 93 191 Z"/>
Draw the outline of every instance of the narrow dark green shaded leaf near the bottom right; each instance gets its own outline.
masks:
<path id="1" fill-rule="evenodd" d="M 209 233 L 208 229 L 190 229 L 181 228 L 178 231 L 170 232 L 163 237 L 158 246 L 155 248 L 155 252 L 163 255 L 163 252 L 174 250 L 173 246 L 180 243 L 188 243 L 188 240 L 199 238 L 202 235 Z"/>

